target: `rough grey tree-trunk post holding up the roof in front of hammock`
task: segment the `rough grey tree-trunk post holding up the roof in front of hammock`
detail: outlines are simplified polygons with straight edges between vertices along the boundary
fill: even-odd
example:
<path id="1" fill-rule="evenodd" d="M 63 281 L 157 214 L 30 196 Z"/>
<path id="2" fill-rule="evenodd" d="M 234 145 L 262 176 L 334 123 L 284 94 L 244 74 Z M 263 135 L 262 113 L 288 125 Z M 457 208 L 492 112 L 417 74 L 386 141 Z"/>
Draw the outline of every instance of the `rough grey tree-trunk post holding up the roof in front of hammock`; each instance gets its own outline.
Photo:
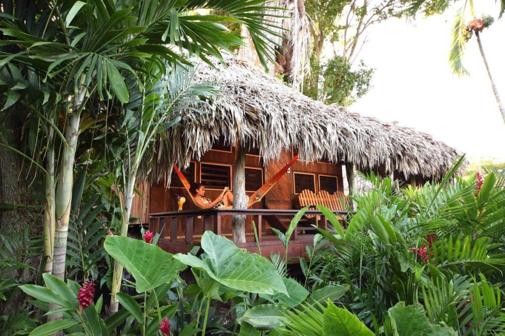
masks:
<path id="1" fill-rule="evenodd" d="M 245 148 L 237 142 L 235 147 L 235 172 L 233 174 L 233 208 L 247 209 L 247 195 L 245 194 Z M 233 216 L 233 242 L 245 243 L 245 216 Z"/>

